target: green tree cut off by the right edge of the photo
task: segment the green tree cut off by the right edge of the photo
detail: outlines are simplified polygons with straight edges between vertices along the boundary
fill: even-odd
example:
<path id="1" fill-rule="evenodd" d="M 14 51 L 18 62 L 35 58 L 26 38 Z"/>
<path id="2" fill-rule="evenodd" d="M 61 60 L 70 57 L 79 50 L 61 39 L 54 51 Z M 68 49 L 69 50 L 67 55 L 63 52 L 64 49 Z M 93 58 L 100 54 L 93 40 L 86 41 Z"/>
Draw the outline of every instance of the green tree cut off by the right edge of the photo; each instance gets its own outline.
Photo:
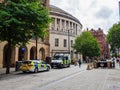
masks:
<path id="1" fill-rule="evenodd" d="M 120 49 L 120 23 L 114 24 L 108 31 L 107 42 L 111 46 L 111 51 L 115 53 L 116 49 Z"/>

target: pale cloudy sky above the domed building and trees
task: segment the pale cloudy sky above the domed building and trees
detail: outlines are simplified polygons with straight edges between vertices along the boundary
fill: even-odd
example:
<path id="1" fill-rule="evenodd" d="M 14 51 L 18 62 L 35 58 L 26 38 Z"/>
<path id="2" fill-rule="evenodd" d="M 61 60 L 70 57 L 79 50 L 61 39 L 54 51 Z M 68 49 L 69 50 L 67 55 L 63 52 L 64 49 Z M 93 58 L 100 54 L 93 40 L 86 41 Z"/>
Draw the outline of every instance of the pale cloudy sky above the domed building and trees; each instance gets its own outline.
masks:
<path id="1" fill-rule="evenodd" d="M 114 23 L 119 21 L 120 0 L 50 0 L 57 6 L 76 17 L 87 28 L 103 29 L 107 34 Z"/>

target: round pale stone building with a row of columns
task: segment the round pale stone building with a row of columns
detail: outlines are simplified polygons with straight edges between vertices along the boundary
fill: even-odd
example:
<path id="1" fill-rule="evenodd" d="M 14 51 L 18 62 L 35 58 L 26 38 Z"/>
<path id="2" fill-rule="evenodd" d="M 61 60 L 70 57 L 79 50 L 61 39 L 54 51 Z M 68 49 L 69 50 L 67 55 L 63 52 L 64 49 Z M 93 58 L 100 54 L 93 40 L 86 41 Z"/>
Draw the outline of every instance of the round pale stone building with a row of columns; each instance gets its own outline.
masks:
<path id="1" fill-rule="evenodd" d="M 57 52 L 70 52 L 72 58 L 78 59 L 79 56 L 75 55 L 72 45 L 75 38 L 81 34 L 82 24 L 72 15 L 53 5 L 50 5 L 50 17 L 54 21 L 50 24 L 50 56 Z M 57 46 L 55 39 L 58 39 Z"/>

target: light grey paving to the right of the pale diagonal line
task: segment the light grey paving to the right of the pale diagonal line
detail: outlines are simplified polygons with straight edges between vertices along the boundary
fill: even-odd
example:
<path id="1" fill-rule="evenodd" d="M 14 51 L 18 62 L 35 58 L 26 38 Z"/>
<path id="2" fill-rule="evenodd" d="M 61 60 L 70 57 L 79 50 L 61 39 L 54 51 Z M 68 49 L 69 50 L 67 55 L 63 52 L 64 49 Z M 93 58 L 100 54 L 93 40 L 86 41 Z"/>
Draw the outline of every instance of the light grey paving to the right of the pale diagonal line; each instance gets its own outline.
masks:
<path id="1" fill-rule="evenodd" d="M 37 90 L 120 90 L 120 67 L 84 69 Z"/>

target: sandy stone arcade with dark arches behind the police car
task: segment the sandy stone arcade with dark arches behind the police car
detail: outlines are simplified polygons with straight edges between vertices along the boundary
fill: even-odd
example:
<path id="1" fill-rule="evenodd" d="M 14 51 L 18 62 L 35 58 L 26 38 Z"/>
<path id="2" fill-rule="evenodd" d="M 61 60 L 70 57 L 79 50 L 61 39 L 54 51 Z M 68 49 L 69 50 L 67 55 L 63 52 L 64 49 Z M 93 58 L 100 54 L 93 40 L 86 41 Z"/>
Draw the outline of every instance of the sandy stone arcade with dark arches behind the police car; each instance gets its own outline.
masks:
<path id="1" fill-rule="evenodd" d="M 5 61 L 7 58 L 7 54 L 7 42 L 0 43 L 0 68 L 6 66 Z M 45 44 L 44 42 L 38 41 L 37 59 L 45 60 L 46 56 L 49 56 L 49 45 Z M 20 47 L 13 48 L 11 66 L 14 66 L 16 61 L 29 59 L 36 59 L 35 40 L 30 40 L 29 44 L 24 47 L 24 51 L 23 48 Z"/>

